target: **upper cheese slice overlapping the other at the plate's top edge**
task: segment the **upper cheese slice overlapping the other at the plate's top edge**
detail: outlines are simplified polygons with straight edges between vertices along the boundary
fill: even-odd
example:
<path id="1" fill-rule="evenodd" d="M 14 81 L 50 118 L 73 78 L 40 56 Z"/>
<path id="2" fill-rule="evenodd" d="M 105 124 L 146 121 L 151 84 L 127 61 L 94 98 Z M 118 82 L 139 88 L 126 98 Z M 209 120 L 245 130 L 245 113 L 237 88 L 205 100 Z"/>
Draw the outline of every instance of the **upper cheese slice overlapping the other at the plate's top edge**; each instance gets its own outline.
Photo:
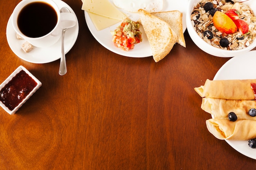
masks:
<path id="1" fill-rule="evenodd" d="M 83 0 L 82 9 L 115 20 L 126 18 L 126 15 L 108 0 Z"/>

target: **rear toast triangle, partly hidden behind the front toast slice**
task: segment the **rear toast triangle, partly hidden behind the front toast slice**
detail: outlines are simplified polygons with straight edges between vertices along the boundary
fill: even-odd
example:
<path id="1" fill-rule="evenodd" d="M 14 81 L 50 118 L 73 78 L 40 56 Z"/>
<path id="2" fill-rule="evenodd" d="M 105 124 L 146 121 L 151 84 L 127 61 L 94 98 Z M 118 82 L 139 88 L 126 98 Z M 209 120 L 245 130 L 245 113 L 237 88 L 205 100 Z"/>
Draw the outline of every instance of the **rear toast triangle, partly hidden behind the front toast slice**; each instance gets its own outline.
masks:
<path id="1" fill-rule="evenodd" d="M 161 18 L 165 22 L 167 22 L 178 36 L 177 43 L 186 47 L 183 29 L 182 29 L 182 12 L 175 10 L 175 11 L 155 12 L 152 14 Z"/>

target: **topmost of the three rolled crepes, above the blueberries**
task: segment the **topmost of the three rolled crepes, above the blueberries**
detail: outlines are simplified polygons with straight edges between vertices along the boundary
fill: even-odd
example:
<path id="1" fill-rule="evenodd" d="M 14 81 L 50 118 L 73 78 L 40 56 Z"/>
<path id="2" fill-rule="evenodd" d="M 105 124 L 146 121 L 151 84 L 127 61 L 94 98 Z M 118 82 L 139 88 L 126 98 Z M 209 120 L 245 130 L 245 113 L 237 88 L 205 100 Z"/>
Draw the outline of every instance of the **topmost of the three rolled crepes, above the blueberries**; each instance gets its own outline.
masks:
<path id="1" fill-rule="evenodd" d="M 211 97 L 231 100 L 254 100 L 252 84 L 256 79 L 209 80 L 204 86 L 194 88 L 201 97 Z"/>

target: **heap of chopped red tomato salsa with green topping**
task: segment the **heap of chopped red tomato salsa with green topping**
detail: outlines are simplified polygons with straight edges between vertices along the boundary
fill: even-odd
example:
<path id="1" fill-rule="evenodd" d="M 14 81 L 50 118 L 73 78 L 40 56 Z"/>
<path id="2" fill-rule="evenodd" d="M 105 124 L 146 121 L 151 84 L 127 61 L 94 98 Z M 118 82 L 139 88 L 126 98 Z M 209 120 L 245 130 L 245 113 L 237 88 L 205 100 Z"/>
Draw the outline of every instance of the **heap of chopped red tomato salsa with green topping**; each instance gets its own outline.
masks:
<path id="1" fill-rule="evenodd" d="M 115 31 L 111 31 L 112 42 L 115 46 L 128 51 L 134 48 L 134 45 L 141 42 L 141 31 L 139 31 L 139 23 L 127 18 Z"/>

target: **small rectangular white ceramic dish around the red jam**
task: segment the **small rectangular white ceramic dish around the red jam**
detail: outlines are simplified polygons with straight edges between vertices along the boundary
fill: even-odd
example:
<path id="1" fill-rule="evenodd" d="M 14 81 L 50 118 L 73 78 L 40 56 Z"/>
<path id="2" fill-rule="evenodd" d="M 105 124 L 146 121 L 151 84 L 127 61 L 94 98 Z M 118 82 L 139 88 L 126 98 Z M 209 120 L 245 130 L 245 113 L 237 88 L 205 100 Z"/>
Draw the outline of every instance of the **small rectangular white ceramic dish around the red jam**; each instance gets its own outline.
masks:
<path id="1" fill-rule="evenodd" d="M 5 106 L 1 101 L 0 101 L 0 106 L 10 115 L 14 114 L 28 99 L 29 97 L 31 97 L 37 90 L 38 88 L 42 85 L 42 83 L 34 76 L 32 75 L 25 67 L 23 66 L 19 66 L 18 68 L 16 68 L 15 71 L 13 71 L 13 73 L 11 73 L 11 75 L 9 75 L 9 77 L 7 77 L 7 79 L 4 80 L 4 82 L 2 82 L 2 84 L 0 84 L 0 91 L 2 91 L 2 88 L 4 88 L 4 86 L 6 84 L 8 84 L 11 79 L 13 77 L 15 77 L 17 75 L 17 73 L 19 73 L 20 71 L 25 71 L 25 73 L 27 73 L 32 79 L 34 79 L 34 81 L 37 83 L 36 86 L 33 88 L 33 90 L 27 94 L 27 96 L 18 104 L 18 106 L 16 106 L 13 110 L 10 110 L 7 106 Z"/>

